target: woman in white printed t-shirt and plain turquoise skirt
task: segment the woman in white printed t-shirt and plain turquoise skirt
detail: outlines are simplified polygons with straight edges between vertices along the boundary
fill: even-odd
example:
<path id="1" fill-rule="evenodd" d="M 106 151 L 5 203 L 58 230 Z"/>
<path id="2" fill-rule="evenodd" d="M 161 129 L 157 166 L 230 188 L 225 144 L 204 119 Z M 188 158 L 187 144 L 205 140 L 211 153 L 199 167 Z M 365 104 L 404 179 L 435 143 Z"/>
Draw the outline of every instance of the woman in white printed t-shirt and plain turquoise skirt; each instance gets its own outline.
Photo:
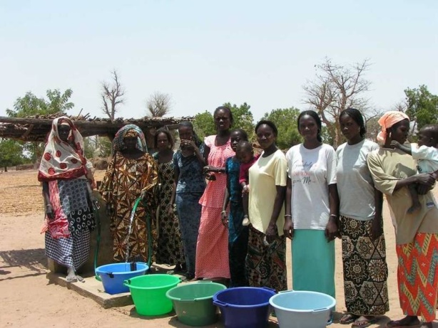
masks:
<path id="1" fill-rule="evenodd" d="M 321 120 L 298 116 L 304 142 L 287 151 L 285 236 L 292 239 L 292 289 L 335 297 L 335 238 L 339 200 L 335 149 L 322 143 Z"/>

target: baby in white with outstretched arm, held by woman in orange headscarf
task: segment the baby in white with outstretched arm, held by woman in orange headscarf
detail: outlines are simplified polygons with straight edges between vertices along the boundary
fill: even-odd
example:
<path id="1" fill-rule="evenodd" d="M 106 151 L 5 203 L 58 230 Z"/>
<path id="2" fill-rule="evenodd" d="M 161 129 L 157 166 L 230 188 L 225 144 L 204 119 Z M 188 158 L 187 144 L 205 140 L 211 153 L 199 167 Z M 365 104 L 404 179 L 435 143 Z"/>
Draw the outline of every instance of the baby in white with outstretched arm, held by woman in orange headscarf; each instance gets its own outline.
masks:
<path id="1" fill-rule="evenodd" d="M 426 125 L 418 132 L 418 148 L 406 146 L 392 140 L 391 146 L 400 149 L 418 160 L 418 173 L 434 173 L 438 171 L 438 125 Z M 414 213 L 421 205 L 418 199 L 417 185 L 409 184 L 409 193 L 412 197 L 412 206 L 407 213 Z"/>

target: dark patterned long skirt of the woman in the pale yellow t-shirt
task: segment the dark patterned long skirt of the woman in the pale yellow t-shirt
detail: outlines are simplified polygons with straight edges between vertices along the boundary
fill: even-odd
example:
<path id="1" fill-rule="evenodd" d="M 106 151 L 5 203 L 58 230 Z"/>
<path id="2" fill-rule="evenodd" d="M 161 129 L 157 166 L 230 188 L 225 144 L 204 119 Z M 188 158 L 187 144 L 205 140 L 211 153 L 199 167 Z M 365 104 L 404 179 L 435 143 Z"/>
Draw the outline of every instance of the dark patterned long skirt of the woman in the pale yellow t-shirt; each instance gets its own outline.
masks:
<path id="1" fill-rule="evenodd" d="M 246 270 L 251 287 L 269 287 L 280 292 L 287 290 L 286 238 L 280 236 L 265 245 L 262 233 L 250 226 Z"/>

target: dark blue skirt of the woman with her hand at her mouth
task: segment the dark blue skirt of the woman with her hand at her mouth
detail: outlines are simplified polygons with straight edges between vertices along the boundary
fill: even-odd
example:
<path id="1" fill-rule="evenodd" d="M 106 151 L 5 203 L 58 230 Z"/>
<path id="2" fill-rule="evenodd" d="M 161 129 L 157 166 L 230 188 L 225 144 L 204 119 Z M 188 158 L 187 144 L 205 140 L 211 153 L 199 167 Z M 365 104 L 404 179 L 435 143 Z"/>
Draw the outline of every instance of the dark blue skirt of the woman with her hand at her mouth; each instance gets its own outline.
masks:
<path id="1" fill-rule="evenodd" d="M 176 194 L 175 198 L 183 238 L 185 265 L 190 275 L 195 274 L 196 242 L 198 241 L 200 211 L 202 208 L 199 199 L 202 195 L 202 192 L 181 193 Z"/>

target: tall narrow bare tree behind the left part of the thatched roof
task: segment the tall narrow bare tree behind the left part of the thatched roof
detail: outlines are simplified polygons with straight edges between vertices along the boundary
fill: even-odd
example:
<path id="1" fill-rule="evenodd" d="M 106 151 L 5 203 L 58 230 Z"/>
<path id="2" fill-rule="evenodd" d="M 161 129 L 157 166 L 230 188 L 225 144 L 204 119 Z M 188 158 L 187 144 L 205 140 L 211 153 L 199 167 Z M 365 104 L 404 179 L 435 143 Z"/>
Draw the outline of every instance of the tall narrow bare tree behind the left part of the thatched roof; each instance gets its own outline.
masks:
<path id="1" fill-rule="evenodd" d="M 123 95 L 125 95 L 125 90 L 121 86 L 118 80 L 118 74 L 116 70 L 111 71 L 112 83 L 103 82 L 102 83 L 102 111 L 104 114 L 108 115 L 111 121 L 116 117 L 116 111 L 118 110 L 118 105 L 125 102 Z"/>

